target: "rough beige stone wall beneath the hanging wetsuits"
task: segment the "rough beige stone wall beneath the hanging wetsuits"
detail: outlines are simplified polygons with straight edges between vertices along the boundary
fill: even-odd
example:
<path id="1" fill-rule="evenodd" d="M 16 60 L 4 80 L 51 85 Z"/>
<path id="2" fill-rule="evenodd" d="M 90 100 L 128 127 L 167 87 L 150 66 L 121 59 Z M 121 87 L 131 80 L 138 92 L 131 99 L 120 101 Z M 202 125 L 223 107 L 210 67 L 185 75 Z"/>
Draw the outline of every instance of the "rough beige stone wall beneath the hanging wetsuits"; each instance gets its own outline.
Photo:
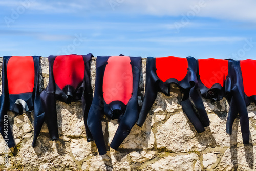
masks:
<path id="1" fill-rule="evenodd" d="M 2 59 L 1 59 L 2 62 Z M 48 82 L 48 59 L 42 58 L 45 87 Z M 1 63 L 2 65 L 2 63 Z M 0 66 L 1 67 L 1 66 Z M 96 59 L 92 61 L 92 83 L 95 82 Z M 2 68 L 2 67 L 1 67 Z M 140 95 L 145 80 L 143 59 Z M 143 127 L 135 125 L 118 151 L 110 149 L 99 156 L 94 142 L 86 141 L 81 102 L 67 105 L 57 101 L 60 139 L 51 141 L 46 124 L 32 148 L 33 113 L 15 116 L 9 121 L 17 148 L 9 150 L 9 167 L 4 166 L 4 140 L 0 138 L 0 170 L 256 170 L 256 106 L 248 107 L 251 140 L 243 145 L 237 118 L 233 134 L 225 133 L 228 104 L 204 100 L 210 126 L 198 134 L 179 105 L 179 90 L 170 97 L 159 93 Z M 142 97 L 139 97 L 141 105 Z M 117 120 L 103 118 L 105 142 L 112 141 Z"/>

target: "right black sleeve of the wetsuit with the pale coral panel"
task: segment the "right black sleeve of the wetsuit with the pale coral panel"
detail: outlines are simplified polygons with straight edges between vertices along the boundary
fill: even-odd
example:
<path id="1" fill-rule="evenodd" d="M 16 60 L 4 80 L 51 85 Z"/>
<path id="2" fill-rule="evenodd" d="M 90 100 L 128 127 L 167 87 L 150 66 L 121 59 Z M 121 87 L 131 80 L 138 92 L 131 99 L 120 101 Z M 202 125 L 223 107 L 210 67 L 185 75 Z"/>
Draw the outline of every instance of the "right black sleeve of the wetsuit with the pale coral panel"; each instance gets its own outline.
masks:
<path id="1" fill-rule="evenodd" d="M 139 105 L 138 105 L 138 87 L 140 79 L 140 66 L 141 58 L 139 58 L 139 66 L 133 66 L 133 95 L 129 100 L 124 116 L 122 117 L 119 126 L 116 130 L 115 136 L 110 144 L 111 148 L 118 149 L 123 140 L 129 135 L 132 127 L 138 120 L 139 117 Z M 132 62 L 133 63 L 133 62 Z M 137 63 L 137 62 L 135 62 Z M 138 72 L 137 72 L 138 71 Z"/>

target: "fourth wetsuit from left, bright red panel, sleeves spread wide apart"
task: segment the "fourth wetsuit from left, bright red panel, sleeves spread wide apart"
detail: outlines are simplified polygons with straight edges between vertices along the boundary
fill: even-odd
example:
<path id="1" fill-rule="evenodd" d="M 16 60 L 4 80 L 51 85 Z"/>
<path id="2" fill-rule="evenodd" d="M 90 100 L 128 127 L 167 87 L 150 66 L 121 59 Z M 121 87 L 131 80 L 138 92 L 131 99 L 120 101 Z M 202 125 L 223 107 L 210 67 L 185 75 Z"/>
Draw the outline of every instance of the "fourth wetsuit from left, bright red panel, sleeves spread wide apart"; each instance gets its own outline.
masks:
<path id="1" fill-rule="evenodd" d="M 193 57 L 148 57 L 146 62 L 145 96 L 137 125 L 142 126 L 150 111 L 157 92 L 170 96 L 170 84 L 179 86 L 184 96 L 181 105 L 184 113 L 194 125 L 198 133 L 209 126 L 209 118 L 205 111 L 202 98 L 198 93 L 197 61 Z"/>

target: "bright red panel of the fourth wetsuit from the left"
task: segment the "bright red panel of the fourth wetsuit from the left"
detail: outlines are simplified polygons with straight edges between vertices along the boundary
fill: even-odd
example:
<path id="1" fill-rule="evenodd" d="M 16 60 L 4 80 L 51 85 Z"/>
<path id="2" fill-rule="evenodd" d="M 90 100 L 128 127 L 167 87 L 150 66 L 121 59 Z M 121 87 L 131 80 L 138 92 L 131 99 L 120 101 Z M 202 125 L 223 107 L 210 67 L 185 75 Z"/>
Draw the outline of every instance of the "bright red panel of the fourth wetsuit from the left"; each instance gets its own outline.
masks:
<path id="1" fill-rule="evenodd" d="M 187 74 L 188 63 L 186 58 L 174 56 L 156 58 L 157 76 L 163 82 L 170 78 L 181 81 Z"/>

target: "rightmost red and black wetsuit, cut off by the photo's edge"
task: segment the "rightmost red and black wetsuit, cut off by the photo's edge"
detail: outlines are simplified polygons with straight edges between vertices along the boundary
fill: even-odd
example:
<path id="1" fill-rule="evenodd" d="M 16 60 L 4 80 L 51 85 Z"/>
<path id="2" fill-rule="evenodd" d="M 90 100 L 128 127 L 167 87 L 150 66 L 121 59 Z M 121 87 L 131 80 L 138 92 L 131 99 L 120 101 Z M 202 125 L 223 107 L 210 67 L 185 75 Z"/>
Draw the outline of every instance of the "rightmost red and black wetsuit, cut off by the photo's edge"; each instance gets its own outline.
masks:
<path id="1" fill-rule="evenodd" d="M 228 86 L 226 88 L 227 92 L 232 95 L 229 95 L 227 98 L 230 101 L 230 108 L 227 117 L 226 132 L 229 134 L 232 133 L 234 119 L 239 113 L 244 144 L 249 144 L 250 137 L 249 117 L 246 106 L 249 106 L 251 102 L 256 102 L 256 92 L 253 87 L 255 70 L 255 60 L 233 61 L 232 71 L 236 73 L 236 76 L 234 76 L 232 87 Z"/>

